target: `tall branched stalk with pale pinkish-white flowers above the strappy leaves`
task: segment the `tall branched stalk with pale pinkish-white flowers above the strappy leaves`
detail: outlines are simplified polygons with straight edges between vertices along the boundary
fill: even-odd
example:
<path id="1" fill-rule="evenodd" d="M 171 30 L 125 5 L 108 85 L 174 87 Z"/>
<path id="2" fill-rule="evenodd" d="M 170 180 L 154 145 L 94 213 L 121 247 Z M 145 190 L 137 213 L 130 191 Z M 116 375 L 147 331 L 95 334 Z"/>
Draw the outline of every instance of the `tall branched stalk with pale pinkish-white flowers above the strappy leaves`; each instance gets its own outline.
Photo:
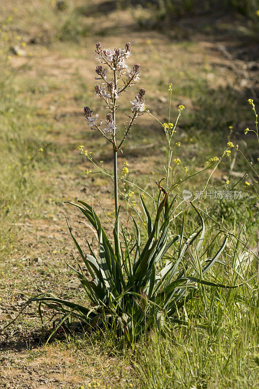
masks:
<path id="1" fill-rule="evenodd" d="M 84 108 L 86 123 L 91 127 L 91 129 L 99 131 L 104 138 L 112 143 L 113 147 L 113 178 L 114 178 L 114 205 L 115 205 L 115 215 L 118 219 L 118 209 L 119 209 L 119 188 L 118 188 L 118 151 L 121 150 L 122 143 L 125 141 L 126 137 L 129 135 L 134 121 L 139 115 L 145 110 L 145 89 L 139 89 L 138 95 L 135 97 L 135 100 L 131 102 L 131 115 L 127 115 L 129 121 L 124 123 L 124 133 L 121 137 L 121 140 L 118 141 L 117 137 L 120 133 L 120 129 L 117 129 L 116 122 L 116 111 L 119 108 L 117 105 L 117 100 L 119 99 L 122 92 L 126 88 L 131 87 L 136 82 L 138 82 L 140 77 L 140 64 L 136 63 L 131 69 L 127 60 L 132 55 L 131 52 L 131 43 L 127 42 L 124 49 L 114 50 L 110 48 L 104 49 L 100 42 L 96 43 L 97 56 L 96 59 L 106 65 L 110 71 L 113 72 L 112 79 L 108 80 L 106 76 L 106 69 L 102 65 L 96 67 L 96 73 L 98 77 L 95 77 L 96 80 L 101 80 L 100 84 L 95 86 L 96 95 L 101 97 L 105 101 L 105 108 L 109 110 L 109 113 L 106 114 L 106 125 L 102 127 L 103 121 L 100 120 L 99 123 L 97 119 L 98 114 L 93 116 L 93 111 L 90 110 L 88 106 Z M 119 86 L 119 83 L 121 85 Z M 107 89 L 107 90 L 106 90 Z M 121 134 L 120 134 L 121 135 Z M 79 147 L 81 153 L 86 153 L 83 150 L 83 147 Z M 120 226 L 119 220 L 117 223 L 117 234 L 119 236 Z"/>

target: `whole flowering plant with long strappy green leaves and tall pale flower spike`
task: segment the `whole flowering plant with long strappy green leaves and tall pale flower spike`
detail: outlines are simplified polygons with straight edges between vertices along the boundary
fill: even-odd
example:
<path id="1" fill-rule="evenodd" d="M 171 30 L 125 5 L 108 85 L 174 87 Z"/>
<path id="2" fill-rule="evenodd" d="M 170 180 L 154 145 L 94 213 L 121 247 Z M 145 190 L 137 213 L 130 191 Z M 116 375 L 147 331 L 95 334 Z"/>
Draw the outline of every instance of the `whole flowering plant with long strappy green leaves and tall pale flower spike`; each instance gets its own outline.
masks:
<path id="1" fill-rule="evenodd" d="M 99 131 L 113 148 L 113 175 L 108 174 L 114 181 L 113 241 L 108 238 L 92 205 L 84 201 L 79 201 L 77 204 L 69 201 L 69 204 L 77 207 L 85 215 L 98 238 L 98 254 L 95 253 L 87 239 L 89 253 L 86 254 L 67 220 L 70 234 L 85 265 L 83 267 L 77 262 L 77 269 L 71 265 L 69 267 L 78 276 L 88 296 L 89 304 L 83 306 L 64 301 L 51 293 L 35 296 L 30 301 L 45 303 L 61 315 L 52 334 L 61 325 L 65 326 L 68 331 L 75 328 L 83 331 L 96 326 L 114 325 L 119 333 L 122 332 L 127 339 L 132 339 L 155 324 L 163 326 L 166 320 L 187 324 L 185 320 L 179 318 L 179 310 L 186 301 L 194 297 L 199 284 L 228 287 L 204 280 L 204 274 L 218 262 L 218 258 L 224 251 L 227 236 L 224 237 L 221 246 L 211 255 L 210 247 L 215 247 L 216 243 L 211 238 L 210 245 L 204 245 L 206 229 L 204 220 L 192 203 L 190 204 L 199 220 L 198 226 L 192 233 L 186 235 L 183 207 L 183 211 L 180 212 L 183 215 L 182 227 L 179 233 L 172 231 L 171 221 L 174 212 L 179 205 L 184 203 L 182 201 L 176 205 L 176 195 L 170 199 L 170 190 L 173 187 L 169 182 L 170 171 L 172 171 L 170 165 L 173 158 L 172 138 L 177 121 L 184 109 L 184 106 L 179 106 L 176 124 L 170 123 L 170 110 L 168 124 L 162 124 L 169 145 L 168 165 L 165 188 L 161 186 L 162 180 L 160 180 L 157 183 L 157 197 L 155 194 L 151 196 L 154 201 L 155 214 L 153 216 L 144 198 L 140 196 L 146 217 L 146 234 L 141 237 L 138 223 L 132 216 L 132 233 L 128 237 L 128 228 L 125 232 L 119 220 L 121 205 L 118 196 L 117 155 L 135 124 L 135 120 L 146 110 L 145 89 L 140 88 L 135 100 L 131 102 L 131 114 L 128 115 L 129 120 L 127 124 L 124 124 L 124 133 L 121 136 L 116 121 L 116 112 L 119 108 L 117 101 L 122 92 L 139 80 L 140 65 L 136 63 L 130 69 L 127 64 L 127 59 L 132 54 L 129 42 L 126 43 L 124 49 L 114 50 L 104 49 L 98 42 L 96 54 L 99 62 L 106 65 L 113 73 L 112 80 L 108 80 L 103 65 L 96 67 L 98 75 L 96 79 L 101 80 L 101 85 L 95 86 L 95 92 L 97 96 L 104 99 L 109 112 L 106 114 L 104 125 L 102 120 L 98 121 L 99 115 L 94 115 L 88 106 L 84 108 L 84 112 L 86 123 L 90 128 Z M 172 85 L 169 91 L 171 98 Z M 121 139 L 118 141 L 119 136 Z M 176 143 L 176 146 L 178 147 L 179 144 Z M 84 146 L 79 146 L 79 149 L 82 154 L 93 161 L 91 155 L 84 151 Z M 180 159 L 175 158 L 174 167 L 179 163 Z M 126 163 L 122 170 L 123 177 L 125 177 L 128 173 Z M 218 235 L 224 232 L 220 228 L 217 230 L 215 239 L 218 239 Z"/>

